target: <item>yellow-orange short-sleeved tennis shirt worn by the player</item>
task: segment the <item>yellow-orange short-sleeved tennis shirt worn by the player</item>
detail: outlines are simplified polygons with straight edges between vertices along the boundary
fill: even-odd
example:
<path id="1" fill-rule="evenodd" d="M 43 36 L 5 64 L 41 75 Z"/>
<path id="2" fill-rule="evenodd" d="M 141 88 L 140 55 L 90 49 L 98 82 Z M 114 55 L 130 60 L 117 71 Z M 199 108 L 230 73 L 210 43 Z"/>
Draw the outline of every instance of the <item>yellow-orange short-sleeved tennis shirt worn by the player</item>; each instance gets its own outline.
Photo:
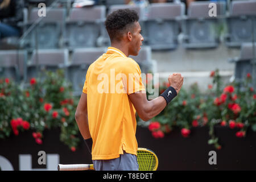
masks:
<path id="1" fill-rule="evenodd" d="M 118 158 L 123 150 L 137 155 L 136 110 L 128 95 L 142 91 L 139 65 L 117 48 L 90 65 L 82 92 L 87 94 L 92 160 Z"/>

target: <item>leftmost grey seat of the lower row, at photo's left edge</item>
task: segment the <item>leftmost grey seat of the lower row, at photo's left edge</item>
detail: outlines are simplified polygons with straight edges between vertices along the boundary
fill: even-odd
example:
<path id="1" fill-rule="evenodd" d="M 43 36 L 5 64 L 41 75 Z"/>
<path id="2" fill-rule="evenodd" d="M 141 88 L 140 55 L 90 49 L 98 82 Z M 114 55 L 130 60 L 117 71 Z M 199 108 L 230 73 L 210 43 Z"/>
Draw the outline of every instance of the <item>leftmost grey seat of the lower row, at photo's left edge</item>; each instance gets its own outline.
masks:
<path id="1" fill-rule="evenodd" d="M 27 51 L 0 51 L 0 78 L 8 77 L 16 82 L 21 81 L 22 77 L 26 77 L 24 72 L 26 60 Z"/>

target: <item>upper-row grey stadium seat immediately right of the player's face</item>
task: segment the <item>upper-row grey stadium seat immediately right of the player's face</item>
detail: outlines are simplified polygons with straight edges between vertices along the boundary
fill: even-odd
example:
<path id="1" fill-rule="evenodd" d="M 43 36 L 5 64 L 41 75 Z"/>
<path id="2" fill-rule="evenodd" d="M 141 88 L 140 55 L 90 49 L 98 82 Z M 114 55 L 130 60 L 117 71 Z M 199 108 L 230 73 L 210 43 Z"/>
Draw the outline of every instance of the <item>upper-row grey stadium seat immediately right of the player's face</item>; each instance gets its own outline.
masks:
<path id="1" fill-rule="evenodd" d="M 144 43 L 152 50 L 175 49 L 179 18 L 184 13 L 184 3 L 152 3 L 142 30 Z"/>

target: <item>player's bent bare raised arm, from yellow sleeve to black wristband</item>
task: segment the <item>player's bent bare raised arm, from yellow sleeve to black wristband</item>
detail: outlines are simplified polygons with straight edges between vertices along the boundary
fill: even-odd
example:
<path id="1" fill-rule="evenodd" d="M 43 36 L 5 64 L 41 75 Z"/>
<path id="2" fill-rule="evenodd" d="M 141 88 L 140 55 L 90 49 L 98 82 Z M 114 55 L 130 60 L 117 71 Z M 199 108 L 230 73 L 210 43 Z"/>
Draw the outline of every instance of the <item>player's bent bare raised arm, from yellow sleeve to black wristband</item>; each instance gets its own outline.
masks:
<path id="1" fill-rule="evenodd" d="M 131 102 L 133 103 L 139 117 L 143 121 L 148 121 L 149 119 L 158 115 L 167 103 L 164 97 L 159 96 L 154 100 L 148 101 L 146 93 L 135 92 L 129 95 Z"/>

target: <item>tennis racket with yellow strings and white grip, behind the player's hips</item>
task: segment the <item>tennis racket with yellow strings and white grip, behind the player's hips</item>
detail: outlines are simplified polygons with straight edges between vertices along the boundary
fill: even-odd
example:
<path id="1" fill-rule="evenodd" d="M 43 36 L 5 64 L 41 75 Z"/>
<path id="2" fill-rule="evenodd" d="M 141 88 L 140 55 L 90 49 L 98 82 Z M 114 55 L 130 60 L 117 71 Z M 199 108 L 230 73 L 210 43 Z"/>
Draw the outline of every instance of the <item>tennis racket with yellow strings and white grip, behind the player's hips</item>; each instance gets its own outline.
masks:
<path id="1" fill-rule="evenodd" d="M 158 168 L 158 157 L 147 148 L 138 148 L 137 161 L 139 171 L 156 171 Z M 94 170 L 93 164 L 59 164 L 58 171 L 84 171 Z"/>

